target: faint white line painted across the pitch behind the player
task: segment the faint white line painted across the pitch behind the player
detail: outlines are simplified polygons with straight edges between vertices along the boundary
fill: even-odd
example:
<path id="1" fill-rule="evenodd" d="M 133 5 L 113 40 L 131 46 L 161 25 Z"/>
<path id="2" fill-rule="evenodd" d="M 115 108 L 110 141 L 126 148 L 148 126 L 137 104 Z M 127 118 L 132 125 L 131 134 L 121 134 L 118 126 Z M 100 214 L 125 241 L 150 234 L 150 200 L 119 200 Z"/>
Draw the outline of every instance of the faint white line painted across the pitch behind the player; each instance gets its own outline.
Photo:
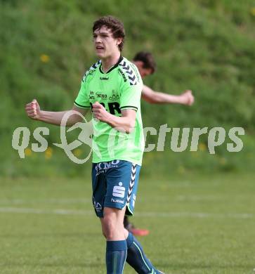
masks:
<path id="1" fill-rule="evenodd" d="M 60 215 L 94 215 L 93 210 L 72 209 L 32 209 L 16 207 L 0 207 L 0 213 L 14 214 L 60 214 Z M 151 218 L 255 218 L 255 214 L 249 213 L 205 213 L 205 212 L 136 212 L 138 217 Z"/>

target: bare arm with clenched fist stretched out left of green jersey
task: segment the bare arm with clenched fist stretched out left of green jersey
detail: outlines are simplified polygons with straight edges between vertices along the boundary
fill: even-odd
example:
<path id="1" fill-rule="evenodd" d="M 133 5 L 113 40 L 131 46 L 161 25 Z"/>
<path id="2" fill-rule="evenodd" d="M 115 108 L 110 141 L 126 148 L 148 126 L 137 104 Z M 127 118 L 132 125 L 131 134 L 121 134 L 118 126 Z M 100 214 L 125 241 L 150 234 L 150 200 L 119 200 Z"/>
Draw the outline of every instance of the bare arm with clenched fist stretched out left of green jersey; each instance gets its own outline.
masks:
<path id="1" fill-rule="evenodd" d="M 51 112 L 51 111 L 41 110 L 39 103 L 35 99 L 25 106 L 25 110 L 27 112 L 27 116 L 30 117 L 31 119 L 39 120 L 41 122 L 46 122 L 48 124 L 55 124 L 58 126 L 60 126 L 63 116 L 67 112 L 76 111 L 81 113 L 81 115 L 86 115 L 86 112 L 87 112 L 87 110 L 83 110 L 77 107 L 76 105 L 72 107 L 72 110 L 65 110 L 60 112 Z M 74 113 L 73 115 L 70 115 L 67 121 L 67 126 L 72 126 L 76 124 L 77 122 L 81 122 L 81 120 L 82 120 L 82 117 Z"/>

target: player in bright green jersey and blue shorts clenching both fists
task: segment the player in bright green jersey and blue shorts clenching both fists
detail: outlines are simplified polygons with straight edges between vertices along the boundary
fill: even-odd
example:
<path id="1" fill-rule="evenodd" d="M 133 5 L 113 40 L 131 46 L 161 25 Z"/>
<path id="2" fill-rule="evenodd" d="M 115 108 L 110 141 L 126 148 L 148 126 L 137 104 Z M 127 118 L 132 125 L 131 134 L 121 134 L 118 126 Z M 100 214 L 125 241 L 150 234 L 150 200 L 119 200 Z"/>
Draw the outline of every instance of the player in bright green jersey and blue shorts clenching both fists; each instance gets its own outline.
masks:
<path id="1" fill-rule="evenodd" d="M 137 273 L 161 273 L 145 256 L 143 247 L 123 225 L 133 214 L 144 141 L 140 117 L 143 81 L 136 65 L 121 56 L 124 26 L 112 16 L 93 24 L 93 43 L 100 60 L 81 81 L 72 110 L 93 113 L 93 206 L 106 238 L 107 274 L 123 273 L 125 261 Z M 27 115 L 60 125 L 63 112 L 40 110 L 36 100 L 26 105 Z M 67 126 L 81 121 L 72 115 Z"/>

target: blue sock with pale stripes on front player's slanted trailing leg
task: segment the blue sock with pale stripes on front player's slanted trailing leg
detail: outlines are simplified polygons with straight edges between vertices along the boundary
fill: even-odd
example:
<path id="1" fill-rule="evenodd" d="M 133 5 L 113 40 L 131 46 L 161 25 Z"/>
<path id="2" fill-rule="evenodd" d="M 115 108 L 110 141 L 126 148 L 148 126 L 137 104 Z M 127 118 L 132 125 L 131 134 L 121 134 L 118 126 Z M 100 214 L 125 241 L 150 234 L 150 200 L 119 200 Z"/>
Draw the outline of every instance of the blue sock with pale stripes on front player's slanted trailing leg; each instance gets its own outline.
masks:
<path id="1" fill-rule="evenodd" d="M 127 256 L 126 262 L 139 274 L 157 274 L 157 269 L 152 266 L 150 260 L 145 256 L 140 242 L 129 232 L 126 238 Z"/>

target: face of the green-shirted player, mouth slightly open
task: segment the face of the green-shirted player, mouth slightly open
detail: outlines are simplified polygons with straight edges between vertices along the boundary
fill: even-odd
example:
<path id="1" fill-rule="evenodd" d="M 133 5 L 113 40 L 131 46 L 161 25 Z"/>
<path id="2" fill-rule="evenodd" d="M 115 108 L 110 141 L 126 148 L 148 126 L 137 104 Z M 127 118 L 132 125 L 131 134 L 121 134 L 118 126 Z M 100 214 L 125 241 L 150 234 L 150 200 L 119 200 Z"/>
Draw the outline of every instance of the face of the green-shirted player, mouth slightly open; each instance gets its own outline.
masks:
<path id="1" fill-rule="evenodd" d="M 102 59 L 114 56 L 119 51 L 118 45 L 121 41 L 120 38 L 112 37 L 112 31 L 105 26 L 93 32 L 96 55 Z"/>

